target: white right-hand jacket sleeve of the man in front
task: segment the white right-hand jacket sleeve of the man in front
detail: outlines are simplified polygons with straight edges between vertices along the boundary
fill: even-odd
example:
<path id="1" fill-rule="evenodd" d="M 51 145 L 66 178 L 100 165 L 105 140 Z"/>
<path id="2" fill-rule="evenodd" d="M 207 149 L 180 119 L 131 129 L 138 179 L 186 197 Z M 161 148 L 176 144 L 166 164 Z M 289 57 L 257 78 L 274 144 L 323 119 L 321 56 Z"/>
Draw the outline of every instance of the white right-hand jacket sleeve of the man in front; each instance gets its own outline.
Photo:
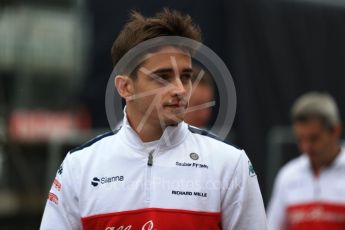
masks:
<path id="1" fill-rule="evenodd" d="M 245 152 L 240 156 L 222 201 L 222 228 L 267 229 L 257 176 Z"/>

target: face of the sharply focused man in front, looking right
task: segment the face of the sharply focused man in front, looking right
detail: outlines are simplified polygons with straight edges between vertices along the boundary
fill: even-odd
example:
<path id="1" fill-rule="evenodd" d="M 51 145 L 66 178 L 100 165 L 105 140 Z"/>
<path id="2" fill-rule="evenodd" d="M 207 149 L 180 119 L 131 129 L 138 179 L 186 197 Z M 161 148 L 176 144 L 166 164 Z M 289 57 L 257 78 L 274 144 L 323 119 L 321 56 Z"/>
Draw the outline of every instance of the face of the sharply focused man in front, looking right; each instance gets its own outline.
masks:
<path id="1" fill-rule="evenodd" d="M 192 89 L 190 55 L 175 47 L 164 47 L 148 54 L 133 81 L 130 101 L 139 122 L 162 127 L 183 120 Z"/>

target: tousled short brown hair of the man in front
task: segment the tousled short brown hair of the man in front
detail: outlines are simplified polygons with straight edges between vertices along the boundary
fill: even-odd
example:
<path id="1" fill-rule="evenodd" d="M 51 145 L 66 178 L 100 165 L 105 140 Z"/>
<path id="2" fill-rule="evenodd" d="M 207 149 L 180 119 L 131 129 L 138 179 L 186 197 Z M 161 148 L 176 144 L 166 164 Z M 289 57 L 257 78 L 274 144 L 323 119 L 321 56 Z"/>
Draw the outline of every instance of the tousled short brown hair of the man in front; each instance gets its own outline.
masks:
<path id="1" fill-rule="evenodd" d="M 113 66 L 136 45 L 161 36 L 180 36 L 198 42 L 202 40 L 199 26 L 193 23 L 189 15 L 167 8 L 154 17 L 144 17 L 138 11 L 131 11 L 129 21 L 111 48 Z"/>

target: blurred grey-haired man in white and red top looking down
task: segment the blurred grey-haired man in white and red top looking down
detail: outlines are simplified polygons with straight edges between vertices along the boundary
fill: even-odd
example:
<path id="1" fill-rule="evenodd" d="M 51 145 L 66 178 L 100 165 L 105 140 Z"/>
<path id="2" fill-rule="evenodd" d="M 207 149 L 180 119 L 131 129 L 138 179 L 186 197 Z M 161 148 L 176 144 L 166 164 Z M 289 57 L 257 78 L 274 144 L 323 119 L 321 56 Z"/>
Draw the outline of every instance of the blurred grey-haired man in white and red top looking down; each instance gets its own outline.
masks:
<path id="1" fill-rule="evenodd" d="M 278 173 L 269 229 L 345 229 L 345 153 L 337 105 L 327 94 L 308 93 L 295 102 L 292 118 L 304 154 Z"/>

